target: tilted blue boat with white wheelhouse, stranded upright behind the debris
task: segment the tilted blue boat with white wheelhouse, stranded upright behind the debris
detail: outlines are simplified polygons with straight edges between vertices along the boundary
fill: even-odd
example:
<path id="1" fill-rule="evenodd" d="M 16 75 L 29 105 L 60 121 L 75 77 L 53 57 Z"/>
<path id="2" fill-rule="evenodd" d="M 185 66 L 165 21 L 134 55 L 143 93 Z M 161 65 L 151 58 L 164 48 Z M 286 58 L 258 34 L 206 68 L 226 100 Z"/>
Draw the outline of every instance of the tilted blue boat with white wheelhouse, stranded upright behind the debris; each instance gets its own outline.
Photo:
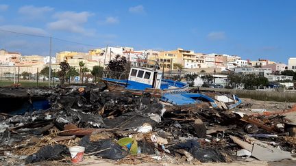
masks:
<path id="1" fill-rule="evenodd" d="M 130 70 L 128 79 L 111 79 L 104 77 L 102 81 L 108 85 L 110 91 L 127 90 L 133 94 L 143 94 L 149 92 L 151 94 L 167 94 L 184 92 L 188 89 L 188 84 L 181 81 L 173 81 L 162 79 L 162 71 L 158 70 L 157 65 L 149 65 L 147 60 L 145 63 L 136 62 Z"/>

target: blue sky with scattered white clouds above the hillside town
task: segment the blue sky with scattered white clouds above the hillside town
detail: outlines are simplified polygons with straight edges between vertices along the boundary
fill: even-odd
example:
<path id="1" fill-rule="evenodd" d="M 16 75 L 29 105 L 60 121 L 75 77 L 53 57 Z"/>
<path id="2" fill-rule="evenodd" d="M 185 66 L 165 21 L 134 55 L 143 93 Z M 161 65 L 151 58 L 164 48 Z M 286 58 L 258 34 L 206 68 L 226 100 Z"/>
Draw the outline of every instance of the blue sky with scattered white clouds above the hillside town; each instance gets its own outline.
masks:
<path id="1" fill-rule="evenodd" d="M 53 52 L 109 46 L 225 53 L 286 63 L 296 53 L 296 1 L 0 0 L 0 29 L 53 36 Z M 0 47 L 49 53 L 47 38 L 0 32 Z"/>

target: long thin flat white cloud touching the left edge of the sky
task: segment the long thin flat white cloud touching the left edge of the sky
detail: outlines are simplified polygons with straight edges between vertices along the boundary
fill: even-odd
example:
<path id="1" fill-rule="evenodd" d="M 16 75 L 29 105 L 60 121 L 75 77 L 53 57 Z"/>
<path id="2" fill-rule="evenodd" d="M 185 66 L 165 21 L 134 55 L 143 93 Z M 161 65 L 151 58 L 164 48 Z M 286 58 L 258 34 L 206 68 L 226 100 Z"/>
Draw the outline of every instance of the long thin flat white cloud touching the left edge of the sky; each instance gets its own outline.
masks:
<path id="1" fill-rule="evenodd" d="M 0 29 L 15 31 L 19 33 L 27 33 L 32 35 L 40 35 L 40 36 L 48 35 L 47 31 L 45 31 L 44 29 L 40 29 L 36 27 L 25 27 L 22 25 L 3 25 L 3 26 L 0 26 Z"/>

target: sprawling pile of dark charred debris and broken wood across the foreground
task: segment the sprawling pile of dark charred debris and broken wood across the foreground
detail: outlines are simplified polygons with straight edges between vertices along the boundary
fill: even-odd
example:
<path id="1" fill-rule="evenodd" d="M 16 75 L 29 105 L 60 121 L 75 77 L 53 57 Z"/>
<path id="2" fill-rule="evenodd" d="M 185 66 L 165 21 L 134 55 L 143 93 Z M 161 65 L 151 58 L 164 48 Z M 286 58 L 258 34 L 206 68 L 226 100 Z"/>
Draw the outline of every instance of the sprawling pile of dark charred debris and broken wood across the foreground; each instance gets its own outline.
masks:
<path id="1" fill-rule="evenodd" d="M 293 122 L 283 113 L 225 111 L 208 102 L 173 106 L 149 94 L 107 92 L 93 85 L 0 88 L 0 93 L 10 103 L 20 98 L 29 103 L 25 113 L 0 113 L 3 164 L 71 162 L 73 146 L 84 147 L 85 158 L 130 164 L 280 161 L 295 154 L 296 141 L 288 137 L 295 134 Z M 42 107 L 32 107 L 36 100 Z M 293 115 L 293 110 L 288 112 Z"/>

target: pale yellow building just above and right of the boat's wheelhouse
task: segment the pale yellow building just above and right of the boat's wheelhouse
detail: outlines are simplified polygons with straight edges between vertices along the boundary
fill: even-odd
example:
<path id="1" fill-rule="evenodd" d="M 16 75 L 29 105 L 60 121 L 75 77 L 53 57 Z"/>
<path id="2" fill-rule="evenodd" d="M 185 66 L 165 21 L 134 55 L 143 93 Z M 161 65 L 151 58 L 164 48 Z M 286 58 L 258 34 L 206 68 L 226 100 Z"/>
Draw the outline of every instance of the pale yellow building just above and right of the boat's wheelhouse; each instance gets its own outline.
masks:
<path id="1" fill-rule="evenodd" d="M 173 70 L 173 64 L 176 63 L 177 55 L 171 51 L 160 51 L 158 54 L 147 55 L 148 59 L 158 62 L 160 68 L 164 70 Z"/>

